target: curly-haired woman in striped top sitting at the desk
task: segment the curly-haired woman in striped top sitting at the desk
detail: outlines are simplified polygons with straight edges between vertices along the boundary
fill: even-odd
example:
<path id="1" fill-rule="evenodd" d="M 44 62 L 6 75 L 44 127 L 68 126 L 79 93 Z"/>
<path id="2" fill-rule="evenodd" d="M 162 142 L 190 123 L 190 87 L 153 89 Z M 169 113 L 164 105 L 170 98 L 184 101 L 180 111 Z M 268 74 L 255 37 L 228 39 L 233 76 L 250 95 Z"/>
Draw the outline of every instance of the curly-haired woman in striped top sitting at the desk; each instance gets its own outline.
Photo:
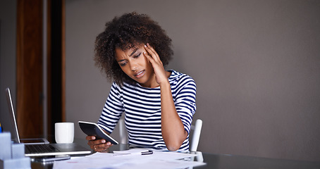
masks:
<path id="1" fill-rule="evenodd" d="M 165 70 L 173 51 L 166 32 L 147 15 L 126 13 L 106 23 L 95 42 L 96 65 L 113 81 L 98 125 L 111 134 L 125 112 L 129 144 L 188 150 L 195 81 Z M 87 136 L 94 151 L 111 146 Z"/>

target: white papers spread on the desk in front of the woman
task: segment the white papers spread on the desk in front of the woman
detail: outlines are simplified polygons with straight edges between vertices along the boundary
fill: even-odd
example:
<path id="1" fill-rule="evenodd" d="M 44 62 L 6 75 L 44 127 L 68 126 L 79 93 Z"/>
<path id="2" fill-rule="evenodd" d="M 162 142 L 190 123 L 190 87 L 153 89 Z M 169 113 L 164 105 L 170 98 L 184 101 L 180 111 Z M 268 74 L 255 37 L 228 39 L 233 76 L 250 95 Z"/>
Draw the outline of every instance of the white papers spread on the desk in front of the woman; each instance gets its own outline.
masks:
<path id="1" fill-rule="evenodd" d="M 203 162 L 193 161 L 197 154 L 185 154 L 172 151 L 152 151 L 149 149 L 130 149 L 111 153 L 95 153 L 90 156 L 71 158 L 67 161 L 55 161 L 54 169 L 60 168 L 189 168 L 205 165 Z"/>

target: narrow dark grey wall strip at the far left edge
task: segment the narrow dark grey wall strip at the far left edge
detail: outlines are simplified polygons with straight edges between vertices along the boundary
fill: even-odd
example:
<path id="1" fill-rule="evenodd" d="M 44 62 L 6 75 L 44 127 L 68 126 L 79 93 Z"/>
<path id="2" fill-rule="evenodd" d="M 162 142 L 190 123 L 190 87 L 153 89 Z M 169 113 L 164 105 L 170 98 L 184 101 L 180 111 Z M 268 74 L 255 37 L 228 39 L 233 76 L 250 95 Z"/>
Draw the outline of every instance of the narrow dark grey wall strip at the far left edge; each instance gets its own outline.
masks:
<path id="1" fill-rule="evenodd" d="M 6 87 L 10 87 L 13 106 L 16 106 L 16 17 L 17 2 L 0 1 L 0 122 L 11 131 L 6 102 Z"/>

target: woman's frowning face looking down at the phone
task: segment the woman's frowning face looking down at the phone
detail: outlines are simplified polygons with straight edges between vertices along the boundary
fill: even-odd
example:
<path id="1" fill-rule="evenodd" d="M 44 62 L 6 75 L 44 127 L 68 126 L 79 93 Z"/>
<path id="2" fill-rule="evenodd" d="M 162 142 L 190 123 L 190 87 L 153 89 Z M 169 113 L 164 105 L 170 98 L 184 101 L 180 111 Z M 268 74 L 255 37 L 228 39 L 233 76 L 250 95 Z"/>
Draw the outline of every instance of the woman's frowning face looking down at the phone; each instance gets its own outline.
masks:
<path id="1" fill-rule="evenodd" d="M 116 48 L 116 61 L 123 72 L 142 87 L 157 87 L 154 68 L 143 52 L 147 53 L 143 44 L 127 51 Z"/>

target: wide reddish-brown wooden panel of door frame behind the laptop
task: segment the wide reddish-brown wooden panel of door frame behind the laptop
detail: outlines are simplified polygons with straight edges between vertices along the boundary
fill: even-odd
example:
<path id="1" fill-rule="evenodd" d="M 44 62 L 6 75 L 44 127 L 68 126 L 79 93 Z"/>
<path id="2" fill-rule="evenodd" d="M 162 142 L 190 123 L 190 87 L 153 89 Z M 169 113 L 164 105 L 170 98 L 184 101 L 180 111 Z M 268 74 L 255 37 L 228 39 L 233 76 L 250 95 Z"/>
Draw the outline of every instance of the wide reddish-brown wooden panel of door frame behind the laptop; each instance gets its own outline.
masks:
<path id="1" fill-rule="evenodd" d="M 20 137 L 43 133 L 42 0 L 18 0 L 17 123 Z"/>

